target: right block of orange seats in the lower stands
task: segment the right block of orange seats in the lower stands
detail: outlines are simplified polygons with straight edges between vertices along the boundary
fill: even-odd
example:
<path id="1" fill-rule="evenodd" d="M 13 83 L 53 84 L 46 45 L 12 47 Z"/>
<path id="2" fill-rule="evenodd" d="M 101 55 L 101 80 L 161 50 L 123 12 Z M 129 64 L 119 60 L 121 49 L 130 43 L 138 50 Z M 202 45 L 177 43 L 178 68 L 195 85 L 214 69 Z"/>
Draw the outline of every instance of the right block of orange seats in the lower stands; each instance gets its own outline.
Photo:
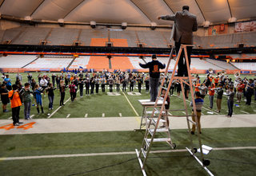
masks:
<path id="1" fill-rule="evenodd" d="M 113 69 L 134 69 L 128 57 L 112 57 L 111 66 Z"/>

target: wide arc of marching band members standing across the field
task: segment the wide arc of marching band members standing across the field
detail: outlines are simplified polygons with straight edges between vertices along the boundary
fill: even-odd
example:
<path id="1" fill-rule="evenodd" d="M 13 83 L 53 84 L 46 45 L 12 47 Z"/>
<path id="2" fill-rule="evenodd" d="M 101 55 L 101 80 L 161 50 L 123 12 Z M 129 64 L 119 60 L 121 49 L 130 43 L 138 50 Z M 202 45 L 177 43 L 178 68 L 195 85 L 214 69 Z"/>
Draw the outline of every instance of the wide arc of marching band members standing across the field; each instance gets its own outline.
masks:
<path id="1" fill-rule="evenodd" d="M 117 70 L 116 72 L 108 72 L 103 69 L 102 72 L 93 72 L 92 74 L 79 71 L 77 74 L 75 72 L 61 72 L 60 74 L 54 73 L 51 74 L 51 76 L 48 76 L 46 73 L 43 75 L 39 73 L 37 78 L 34 78 L 29 72 L 26 76 L 26 83 L 24 83 L 25 81 L 23 81 L 22 75 L 19 72 L 15 77 L 16 80 L 12 81 L 8 74 L 2 74 L 0 94 L 3 112 L 8 112 L 6 104 L 13 102 L 13 104 L 11 104 L 11 109 L 12 113 L 18 117 L 17 119 L 19 119 L 18 107 L 22 106 L 22 104 L 24 104 L 25 119 L 30 119 L 30 108 L 32 104 L 30 95 L 33 95 L 32 97 L 34 98 L 34 104 L 36 105 L 38 114 L 40 113 L 39 108 L 41 108 L 41 112 L 44 113 L 42 95 L 46 96 L 47 94 L 49 100 L 48 108 L 50 110 L 54 109 L 54 90 L 56 89 L 60 92 L 60 106 L 65 105 L 64 99 L 66 89 L 69 89 L 71 102 L 76 100 L 78 91 L 80 97 L 84 96 L 84 90 L 86 91 L 86 96 L 90 96 L 94 95 L 94 92 L 97 94 L 99 88 L 102 89 L 102 92 L 105 92 L 106 86 L 108 86 L 110 92 L 114 92 L 114 90 L 120 92 L 120 88 L 122 88 L 122 92 L 126 92 L 126 88 L 129 88 L 130 92 L 133 92 L 135 85 L 138 86 L 138 92 L 141 92 L 143 84 L 145 84 L 146 92 L 149 92 L 150 90 L 150 76 L 149 74 L 144 74 L 144 72 L 120 72 L 120 70 Z M 181 85 L 175 79 L 170 82 L 170 77 L 171 75 L 164 76 L 163 74 L 160 74 L 158 85 L 162 83 L 162 80 L 164 80 L 164 87 L 166 88 L 171 84 L 169 91 L 170 96 L 174 94 L 174 91 L 180 96 L 182 86 L 184 86 L 187 99 L 188 94 L 190 93 L 190 87 L 187 84 Z M 226 92 L 229 107 L 229 114 L 227 116 L 230 117 L 233 111 L 235 94 L 238 99 L 236 101 L 237 103 L 241 102 L 242 97 L 246 97 L 246 105 L 250 105 L 251 97 L 253 95 L 254 100 L 256 100 L 256 90 L 254 86 L 256 84 L 256 79 L 247 80 L 246 77 L 242 79 L 241 76 L 237 76 L 233 81 L 227 75 L 218 74 L 214 76 L 209 73 L 203 81 L 200 80 L 200 76 L 198 75 L 195 76 L 193 81 L 194 96 L 197 92 L 200 92 L 200 97 L 204 100 L 205 96 L 209 94 L 210 109 L 212 109 L 214 105 L 214 95 L 217 95 L 216 112 L 221 111 L 222 95 Z M 22 82 L 24 84 L 22 84 Z M 14 125 L 18 125 L 19 121 L 17 119 L 14 120 Z"/>

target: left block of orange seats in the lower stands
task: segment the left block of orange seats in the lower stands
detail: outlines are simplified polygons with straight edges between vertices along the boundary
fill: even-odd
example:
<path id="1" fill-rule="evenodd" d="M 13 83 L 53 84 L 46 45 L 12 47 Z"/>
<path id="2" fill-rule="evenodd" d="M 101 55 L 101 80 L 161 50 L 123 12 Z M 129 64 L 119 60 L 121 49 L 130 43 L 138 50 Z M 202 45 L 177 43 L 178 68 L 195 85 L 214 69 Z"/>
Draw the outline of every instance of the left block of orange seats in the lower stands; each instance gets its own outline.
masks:
<path id="1" fill-rule="evenodd" d="M 86 65 L 86 68 L 108 69 L 109 59 L 106 57 L 90 57 L 88 65 Z"/>

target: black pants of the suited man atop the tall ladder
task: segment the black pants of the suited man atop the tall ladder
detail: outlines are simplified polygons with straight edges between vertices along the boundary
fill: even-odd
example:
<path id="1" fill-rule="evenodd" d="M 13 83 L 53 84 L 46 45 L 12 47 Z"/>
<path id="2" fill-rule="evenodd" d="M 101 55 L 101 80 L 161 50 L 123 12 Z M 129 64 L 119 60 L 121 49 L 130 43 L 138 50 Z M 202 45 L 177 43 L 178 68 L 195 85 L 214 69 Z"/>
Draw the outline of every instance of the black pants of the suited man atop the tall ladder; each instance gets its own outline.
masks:
<path id="1" fill-rule="evenodd" d="M 175 49 L 176 49 L 176 54 L 178 56 L 178 50 L 180 49 L 182 43 L 180 42 L 181 38 L 178 42 L 175 42 Z M 186 45 L 186 44 L 184 44 Z M 186 51 L 187 51 L 187 57 L 189 60 L 189 67 L 190 67 L 190 55 L 192 53 L 192 46 L 187 46 L 186 47 Z M 185 74 L 185 76 L 188 76 L 188 72 L 187 72 L 187 68 L 186 68 L 186 59 L 185 59 L 185 64 L 183 64 L 183 57 L 185 57 L 184 55 L 184 50 L 182 49 L 182 53 L 181 56 L 179 57 L 178 60 L 178 76 L 183 76 L 183 74 Z"/>

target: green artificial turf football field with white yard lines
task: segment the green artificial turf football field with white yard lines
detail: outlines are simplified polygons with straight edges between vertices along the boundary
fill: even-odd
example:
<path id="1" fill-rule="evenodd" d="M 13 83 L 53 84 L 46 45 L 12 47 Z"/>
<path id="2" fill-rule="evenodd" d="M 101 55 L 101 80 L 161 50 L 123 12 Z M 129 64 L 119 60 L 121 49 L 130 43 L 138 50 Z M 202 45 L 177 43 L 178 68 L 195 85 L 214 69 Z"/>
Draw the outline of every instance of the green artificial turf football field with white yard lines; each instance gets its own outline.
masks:
<path id="1" fill-rule="evenodd" d="M 13 80 L 16 73 L 10 73 L 10 79 Z M 38 73 L 32 73 L 36 77 Z M 51 76 L 50 73 L 46 73 Z M 59 73 L 57 73 L 59 74 Z M 23 82 L 26 82 L 27 73 L 22 73 Z M 201 76 L 201 80 L 204 79 Z M 234 75 L 230 75 L 234 80 Z M 254 76 L 246 76 L 254 78 Z M 121 86 L 122 88 L 122 86 Z M 129 89 L 129 88 L 128 88 Z M 34 119 L 50 118 L 105 118 L 122 116 L 142 115 L 142 106 L 138 100 L 150 99 L 150 94 L 142 89 L 139 96 L 128 95 L 129 90 L 125 94 L 120 92 L 118 96 L 109 96 L 108 87 L 106 92 L 99 90 L 98 94 L 92 96 L 84 96 L 81 98 L 79 92 L 77 100 L 70 102 L 70 94 L 66 90 L 64 102 L 66 106 L 59 108 L 59 92 L 55 90 L 54 110 L 48 109 L 48 98 L 42 96 L 45 114 L 37 114 L 36 108 L 31 108 L 30 115 L 34 115 Z M 116 89 L 114 88 L 114 92 Z M 138 92 L 135 88 L 134 92 Z M 135 111 L 130 107 L 129 102 L 133 105 Z M 186 102 L 190 104 L 191 98 Z M 244 99 L 242 99 L 244 100 Z M 226 96 L 222 100 L 222 111 L 219 115 L 226 115 L 227 105 Z M 32 101 L 34 104 L 34 100 Z M 255 101 L 252 100 L 251 106 L 245 106 L 245 102 L 241 102 L 240 107 L 234 107 L 234 114 L 255 114 Z M 236 104 L 236 103 L 235 103 Z M 208 114 L 210 109 L 210 100 L 208 96 L 205 98 L 202 113 Z M 59 109 L 58 109 L 59 108 Z M 171 109 L 184 108 L 183 100 L 174 96 L 170 97 Z M 58 109 L 58 111 L 56 111 Z M 10 104 L 7 105 L 10 111 Z M 214 100 L 214 108 L 216 103 Z M 54 112 L 55 111 L 55 112 Z M 173 115 L 181 115 L 181 112 L 172 111 Z M 21 119 L 23 119 L 23 107 L 20 111 Z M 217 113 L 214 113 L 217 115 Z M 3 113 L 0 111 L 0 119 L 8 119 L 11 112 Z M 2 129 L 0 129 L 2 130 Z M 189 135 L 187 130 L 172 130 L 172 141 L 176 143 L 177 150 L 190 147 Z M 238 127 L 238 128 L 214 128 L 203 129 L 201 135 L 202 144 L 210 147 L 226 148 L 226 147 L 256 147 L 255 127 Z M 138 159 L 134 152 L 135 148 L 139 149 L 144 136 L 143 131 L 109 131 L 109 132 L 80 132 L 80 133 L 47 133 L 31 134 L 31 135 L 0 135 L 0 175 L 142 175 Z M 198 138 L 192 136 L 194 145 L 198 146 Z M 154 143 L 152 150 L 165 151 L 170 147 L 166 143 Z M 174 150 L 175 151 L 175 150 Z M 116 154 L 106 154 L 114 152 Z M 118 152 L 128 152 L 122 154 Z M 129 153 L 132 152 L 132 153 Z M 56 157 L 56 154 L 92 154 L 86 156 L 69 156 Z M 208 169 L 214 175 L 254 175 L 256 172 L 255 149 L 239 149 L 239 150 L 216 150 L 210 151 L 206 158 L 210 160 Z M 54 158 L 23 158 L 14 160 L 3 160 L 10 157 L 28 157 L 28 156 L 54 156 Z M 200 154 L 196 154 L 200 158 Z M 14 168 L 15 166 L 15 168 Z M 202 166 L 187 151 L 170 152 L 170 153 L 154 153 L 150 154 L 147 161 L 146 173 L 148 175 L 208 175 Z"/>

